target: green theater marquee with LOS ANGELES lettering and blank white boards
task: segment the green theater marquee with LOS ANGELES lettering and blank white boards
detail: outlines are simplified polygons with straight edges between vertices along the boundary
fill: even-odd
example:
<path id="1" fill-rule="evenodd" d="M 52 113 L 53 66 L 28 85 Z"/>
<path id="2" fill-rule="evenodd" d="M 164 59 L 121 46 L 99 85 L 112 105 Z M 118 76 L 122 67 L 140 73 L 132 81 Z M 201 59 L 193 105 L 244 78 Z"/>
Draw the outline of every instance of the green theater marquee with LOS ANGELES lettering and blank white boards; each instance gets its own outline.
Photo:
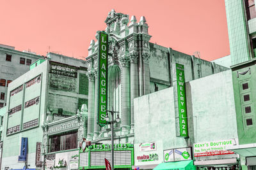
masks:
<path id="1" fill-rule="evenodd" d="M 130 169 L 134 165 L 133 145 L 122 143 L 114 145 L 115 169 Z M 106 169 L 105 158 L 111 164 L 111 145 L 93 144 L 79 151 L 79 169 Z"/>

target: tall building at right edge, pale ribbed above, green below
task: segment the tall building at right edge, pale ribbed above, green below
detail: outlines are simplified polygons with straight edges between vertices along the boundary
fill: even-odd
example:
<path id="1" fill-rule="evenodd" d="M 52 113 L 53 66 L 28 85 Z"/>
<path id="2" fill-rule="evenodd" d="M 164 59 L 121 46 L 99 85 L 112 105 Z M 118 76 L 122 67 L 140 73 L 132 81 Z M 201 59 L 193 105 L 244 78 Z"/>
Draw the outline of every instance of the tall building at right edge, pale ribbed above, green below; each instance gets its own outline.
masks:
<path id="1" fill-rule="evenodd" d="M 255 1 L 225 1 L 239 145 L 243 169 L 256 167 L 255 154 Z"/>

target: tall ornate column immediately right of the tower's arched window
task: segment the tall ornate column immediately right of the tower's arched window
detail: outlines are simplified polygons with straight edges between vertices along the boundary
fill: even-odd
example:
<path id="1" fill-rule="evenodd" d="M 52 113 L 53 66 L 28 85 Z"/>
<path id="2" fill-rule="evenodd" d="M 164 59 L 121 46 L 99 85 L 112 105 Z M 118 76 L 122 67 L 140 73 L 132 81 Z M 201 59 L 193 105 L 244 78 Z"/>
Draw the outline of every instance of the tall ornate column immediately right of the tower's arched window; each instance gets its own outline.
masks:
<path id="1" fill-rule="evenodd" d="M 121 70 L 121 83 L 122 83 L 122 118 L 121 127 L 122 134 L 128 134 L 130 130 L 130 74 L 129 74 L 129 57 L 124 55 L 120 57 L 120 62 L 122 64 Z"/>

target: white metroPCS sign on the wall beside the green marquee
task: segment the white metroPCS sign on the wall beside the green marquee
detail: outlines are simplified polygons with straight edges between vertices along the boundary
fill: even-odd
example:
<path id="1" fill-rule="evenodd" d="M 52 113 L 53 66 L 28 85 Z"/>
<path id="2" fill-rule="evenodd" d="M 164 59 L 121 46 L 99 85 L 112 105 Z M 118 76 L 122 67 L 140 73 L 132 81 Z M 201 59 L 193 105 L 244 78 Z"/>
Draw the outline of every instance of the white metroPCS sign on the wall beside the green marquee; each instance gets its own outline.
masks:
<path id="1" fill-rule="evenodd" d="M 163 160 L 163 144 L 161 141 L 134 144 L 135 166 L 160 164 Z"/>

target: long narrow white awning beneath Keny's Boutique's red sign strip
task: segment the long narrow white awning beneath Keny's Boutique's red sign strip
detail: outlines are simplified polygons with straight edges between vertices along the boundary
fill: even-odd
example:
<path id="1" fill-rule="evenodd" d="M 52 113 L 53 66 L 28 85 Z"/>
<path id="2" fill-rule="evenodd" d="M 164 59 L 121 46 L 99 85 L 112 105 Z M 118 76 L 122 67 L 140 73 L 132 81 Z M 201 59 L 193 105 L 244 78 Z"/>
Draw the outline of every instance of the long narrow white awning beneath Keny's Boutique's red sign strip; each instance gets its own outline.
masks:
<path id="1" fill-rule="evenodd" d="M 194 161 L 195 166 L 210 166 L 220 164 L 236 164 L 236 158 L 232 159 L 216 159 L 216 160 L 198 160 Z"/>

